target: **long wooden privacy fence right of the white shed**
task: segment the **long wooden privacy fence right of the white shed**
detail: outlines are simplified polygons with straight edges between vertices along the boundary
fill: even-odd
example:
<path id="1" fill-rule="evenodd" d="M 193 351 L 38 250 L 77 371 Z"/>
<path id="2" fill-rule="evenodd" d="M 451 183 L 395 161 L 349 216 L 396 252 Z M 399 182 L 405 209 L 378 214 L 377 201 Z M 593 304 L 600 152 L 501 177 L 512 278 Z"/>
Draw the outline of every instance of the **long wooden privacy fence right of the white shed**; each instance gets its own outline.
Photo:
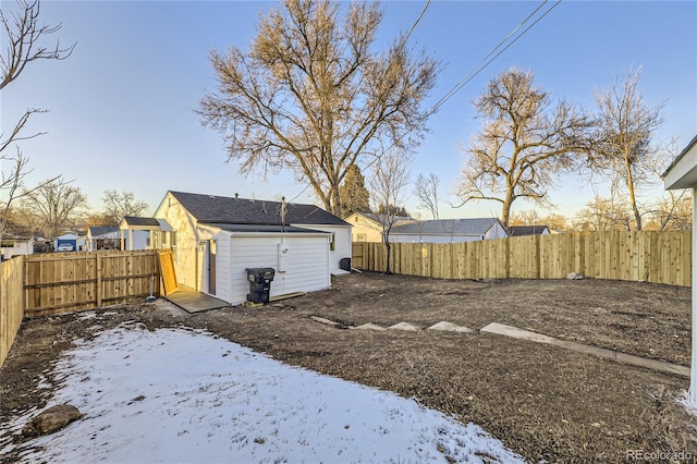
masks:
<path id="1" fill-rule="evenodd" d="M 594 279 L 690 285 L 692 232 L 576 232 L 456 244 L 393 243 L 395 273 L 441 279 Z M 382 243 L 354 243 L 352 266 L 386 271 Z"/>

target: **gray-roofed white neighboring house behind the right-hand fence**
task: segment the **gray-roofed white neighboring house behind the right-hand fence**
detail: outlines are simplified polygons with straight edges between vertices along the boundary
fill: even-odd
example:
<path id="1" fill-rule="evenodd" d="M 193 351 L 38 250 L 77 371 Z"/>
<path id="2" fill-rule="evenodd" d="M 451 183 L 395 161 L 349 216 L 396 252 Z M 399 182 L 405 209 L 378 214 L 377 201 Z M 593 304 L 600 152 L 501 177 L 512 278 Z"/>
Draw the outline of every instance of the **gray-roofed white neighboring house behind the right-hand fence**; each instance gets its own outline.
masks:
<path id="1" fill-rule="evenodd" d="M 497 218 L 436 219 L 402 222 L 392 227 L 392 243 L 462 243 L 509 236 Z"/>

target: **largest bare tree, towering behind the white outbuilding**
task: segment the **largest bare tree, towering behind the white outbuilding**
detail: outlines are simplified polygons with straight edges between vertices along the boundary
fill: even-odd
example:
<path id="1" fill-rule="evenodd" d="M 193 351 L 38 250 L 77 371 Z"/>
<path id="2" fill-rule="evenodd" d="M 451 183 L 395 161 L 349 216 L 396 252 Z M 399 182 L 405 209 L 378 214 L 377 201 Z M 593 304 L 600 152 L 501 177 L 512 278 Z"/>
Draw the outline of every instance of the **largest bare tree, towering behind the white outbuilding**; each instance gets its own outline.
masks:
<path id="1" fill-rule="evenodd" d="M 381 20 L 377 2 L 284 0 L 260 20 L 247 53 L 212 52 L 218 93 L 197 112 L 222 134 L 228 160 L 245 173 L 291 170 L 341 215 L 348 168 L 383 146 L 412 148 L 429 115 L 421 103 L 437 63 L 406 47 L 406 36 L 371 50 Z"/>

